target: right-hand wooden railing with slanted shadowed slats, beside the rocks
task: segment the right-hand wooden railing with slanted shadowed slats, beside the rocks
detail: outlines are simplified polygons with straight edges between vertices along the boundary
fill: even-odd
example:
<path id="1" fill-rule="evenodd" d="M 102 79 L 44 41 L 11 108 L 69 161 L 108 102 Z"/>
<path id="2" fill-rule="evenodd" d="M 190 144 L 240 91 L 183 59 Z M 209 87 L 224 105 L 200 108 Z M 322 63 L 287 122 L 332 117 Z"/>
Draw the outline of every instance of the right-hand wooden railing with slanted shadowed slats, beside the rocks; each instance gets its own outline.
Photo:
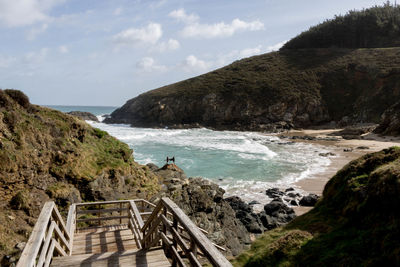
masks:
<path id="1" fill-rule="evenodd" d="M 162 198 L 141 228 L 142 247 L 150 249 L 162 243 L 173 266 L 202 266 L 207 259 L 213 266 L 232 266 L 190 218 L 169 198 Z M 199 256 L 202 256 L 200 259 Z"/>

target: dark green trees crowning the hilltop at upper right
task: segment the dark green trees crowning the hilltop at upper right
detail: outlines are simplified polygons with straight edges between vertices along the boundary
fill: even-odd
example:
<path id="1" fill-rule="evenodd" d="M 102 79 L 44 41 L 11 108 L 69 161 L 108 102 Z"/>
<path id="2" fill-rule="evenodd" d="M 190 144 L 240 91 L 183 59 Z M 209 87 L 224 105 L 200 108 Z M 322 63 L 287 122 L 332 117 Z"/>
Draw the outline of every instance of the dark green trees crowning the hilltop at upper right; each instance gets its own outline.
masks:
<path id="1" fill-rule="evenodd" d="M 335 16 L 287 42 L 284 49 L 371 48 L 400 45 L 400 6 L 388 1 L 361 11 Z"/>

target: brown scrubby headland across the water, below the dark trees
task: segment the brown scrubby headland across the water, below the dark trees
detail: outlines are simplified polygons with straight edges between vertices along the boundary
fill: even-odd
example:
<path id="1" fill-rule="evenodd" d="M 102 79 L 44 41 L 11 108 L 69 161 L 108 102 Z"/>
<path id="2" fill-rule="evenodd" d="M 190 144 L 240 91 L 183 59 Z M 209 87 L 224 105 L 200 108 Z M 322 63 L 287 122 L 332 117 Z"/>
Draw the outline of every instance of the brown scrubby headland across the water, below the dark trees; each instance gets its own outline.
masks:
<path id="1" fill-rule="evenodd" d="M 400 96 L 400 48 L 287 49 L 133 98 L 107 123 L 273 131 L 378 123 Z"/>

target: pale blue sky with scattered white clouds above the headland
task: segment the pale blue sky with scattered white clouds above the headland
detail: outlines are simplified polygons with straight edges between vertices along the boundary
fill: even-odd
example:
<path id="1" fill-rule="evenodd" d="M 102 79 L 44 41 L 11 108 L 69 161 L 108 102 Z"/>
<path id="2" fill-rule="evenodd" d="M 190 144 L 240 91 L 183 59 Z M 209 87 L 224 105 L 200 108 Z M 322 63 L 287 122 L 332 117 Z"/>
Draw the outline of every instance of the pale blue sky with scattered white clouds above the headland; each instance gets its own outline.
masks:
<path id="1" fill-rule="evenodd" d="M 40 105 L 121 106 L 384 2 L 0 0 L 0 88 Z"/>

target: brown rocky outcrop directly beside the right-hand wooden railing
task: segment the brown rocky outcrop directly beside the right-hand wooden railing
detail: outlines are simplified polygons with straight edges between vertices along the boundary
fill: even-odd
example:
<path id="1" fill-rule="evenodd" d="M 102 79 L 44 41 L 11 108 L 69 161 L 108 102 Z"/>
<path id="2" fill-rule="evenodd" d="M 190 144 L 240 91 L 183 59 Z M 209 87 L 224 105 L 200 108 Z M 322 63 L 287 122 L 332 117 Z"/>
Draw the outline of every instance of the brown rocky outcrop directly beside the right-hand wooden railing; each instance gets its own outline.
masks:
<path id="1" fill-rule="evenodd" d="M 152 199 L 170 197 L 199 227 L 206 230 L 216 244 L 227 248 L 227 254 L 237 255 L 250 245 L 250 235 L 236 219 L 235 212 L 218 185 L 202 178 L 186 178 L 175 164 L 155 170 L 163 178 L 163 191 Z"/>

